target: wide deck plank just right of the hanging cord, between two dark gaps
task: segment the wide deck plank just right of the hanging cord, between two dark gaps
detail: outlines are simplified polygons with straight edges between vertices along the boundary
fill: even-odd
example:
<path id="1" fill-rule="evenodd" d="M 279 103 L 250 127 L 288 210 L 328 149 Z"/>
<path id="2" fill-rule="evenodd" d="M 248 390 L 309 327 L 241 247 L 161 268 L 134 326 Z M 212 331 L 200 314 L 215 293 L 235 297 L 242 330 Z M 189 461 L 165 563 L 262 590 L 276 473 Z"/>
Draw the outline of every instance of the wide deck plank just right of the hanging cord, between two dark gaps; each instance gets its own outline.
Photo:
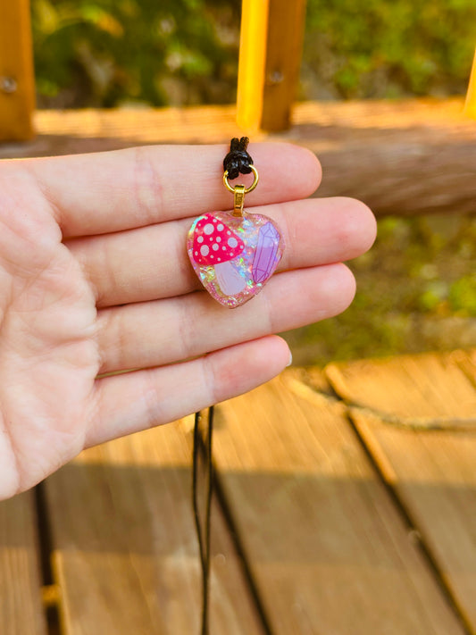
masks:
<path id="1" fill-rule="evenodd" d="M 464 632 L 343 404 L 284 373 L 216 421 L 221 485 L 273 634 Z"/>

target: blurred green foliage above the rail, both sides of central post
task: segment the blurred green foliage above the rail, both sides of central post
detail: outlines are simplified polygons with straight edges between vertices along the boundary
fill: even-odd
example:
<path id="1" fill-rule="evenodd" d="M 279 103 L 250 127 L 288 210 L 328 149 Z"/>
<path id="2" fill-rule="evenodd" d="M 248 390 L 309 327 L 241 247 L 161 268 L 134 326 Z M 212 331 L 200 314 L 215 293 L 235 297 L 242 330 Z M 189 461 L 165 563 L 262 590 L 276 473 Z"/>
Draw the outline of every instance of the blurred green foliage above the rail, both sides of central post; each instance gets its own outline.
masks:
<path id="1" fill-rule="evenodd" d="M 40 106 L 231 103 L 240 0 L 32 0 Z M 308 0 L 301 96 L 466 88 L 474 0 Z"/>

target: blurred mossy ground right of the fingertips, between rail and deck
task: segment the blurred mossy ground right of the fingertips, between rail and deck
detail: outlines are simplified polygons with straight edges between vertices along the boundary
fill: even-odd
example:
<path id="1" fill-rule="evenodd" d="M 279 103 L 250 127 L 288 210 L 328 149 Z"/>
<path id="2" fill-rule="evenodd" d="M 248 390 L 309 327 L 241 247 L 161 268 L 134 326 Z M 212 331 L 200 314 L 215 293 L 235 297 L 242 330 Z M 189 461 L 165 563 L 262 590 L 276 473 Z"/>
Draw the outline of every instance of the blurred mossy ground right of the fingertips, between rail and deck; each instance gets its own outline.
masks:
<path id="1" fill-rule="evenodd" d="M 284 337 L 298 365 L 476 346 L 476 216 L 379 221 L 353 305 Z"/>

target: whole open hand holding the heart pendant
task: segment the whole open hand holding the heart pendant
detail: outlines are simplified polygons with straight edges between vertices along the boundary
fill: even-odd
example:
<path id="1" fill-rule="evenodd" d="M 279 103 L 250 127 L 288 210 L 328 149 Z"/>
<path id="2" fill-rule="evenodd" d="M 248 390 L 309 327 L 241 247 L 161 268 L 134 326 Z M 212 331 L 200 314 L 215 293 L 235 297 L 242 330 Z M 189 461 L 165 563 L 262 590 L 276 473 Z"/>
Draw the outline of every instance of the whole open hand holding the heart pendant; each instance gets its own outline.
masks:
<path id="1" fill-rule="evenodd" d="M 355 293 L 342 264 L 375 238 L 349 198 L 303 200 L 316 158 L 255 144 L 246 207 L 283 232 L 263 292 L 234 310 L 201 288 L 185 249 L 193 219 L 230 209 L 226 146 L 150 146 L 0 163 L 0 497 L 84 447 L 171 422 L 280 373 L 272 333 L 336 315 Z M 133 372 L 101 376 L 103 373 Z M 99 377 L 98 377 L 99 375 Z"/>

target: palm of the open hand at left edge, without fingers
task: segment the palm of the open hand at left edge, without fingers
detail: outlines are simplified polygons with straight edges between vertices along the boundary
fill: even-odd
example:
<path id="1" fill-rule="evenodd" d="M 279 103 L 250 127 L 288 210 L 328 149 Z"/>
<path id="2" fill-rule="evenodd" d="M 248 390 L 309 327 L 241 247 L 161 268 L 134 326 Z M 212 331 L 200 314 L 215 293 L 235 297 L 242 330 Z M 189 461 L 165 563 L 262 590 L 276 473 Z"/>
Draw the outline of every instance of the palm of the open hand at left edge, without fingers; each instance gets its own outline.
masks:
<path id="1" fill-rule="evenodd" d="M 99 367 L 95 298 L 79 263 L 42 196 L 12 186 L 0 198 L 13 229 L 0 268 L 0 493 L 29 487 L 83 447 Z"/>

